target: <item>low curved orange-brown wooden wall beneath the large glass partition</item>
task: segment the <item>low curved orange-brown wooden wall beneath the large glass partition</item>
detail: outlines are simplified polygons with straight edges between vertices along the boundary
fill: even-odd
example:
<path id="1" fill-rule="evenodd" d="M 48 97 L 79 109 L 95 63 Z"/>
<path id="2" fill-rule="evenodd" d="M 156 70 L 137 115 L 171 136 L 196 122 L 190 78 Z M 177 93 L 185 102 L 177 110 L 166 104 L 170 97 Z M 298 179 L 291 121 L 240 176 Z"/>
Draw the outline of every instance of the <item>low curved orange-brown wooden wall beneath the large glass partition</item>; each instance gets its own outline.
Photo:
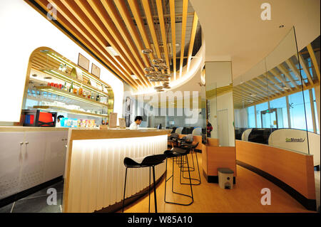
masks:
<path id="1" fill-rule="evenodd" d="M 313 156 L 235 140 L 237 164 L 272 181 L 305 208 L 315 211 Z"/>

